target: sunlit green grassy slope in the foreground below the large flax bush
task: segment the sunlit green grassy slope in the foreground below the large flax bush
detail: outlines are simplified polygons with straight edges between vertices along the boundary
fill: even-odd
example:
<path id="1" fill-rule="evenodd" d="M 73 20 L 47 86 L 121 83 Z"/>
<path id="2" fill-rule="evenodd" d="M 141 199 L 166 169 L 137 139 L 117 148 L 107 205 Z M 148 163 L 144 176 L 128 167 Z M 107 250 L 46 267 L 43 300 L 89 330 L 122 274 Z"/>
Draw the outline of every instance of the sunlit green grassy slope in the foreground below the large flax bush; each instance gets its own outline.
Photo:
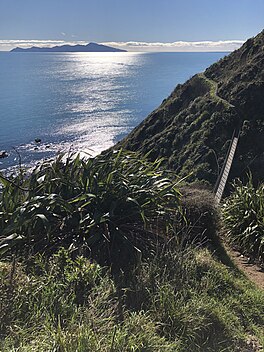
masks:
<path id="1" fill-rule="evenodd" d="M 1 351 L 217 352 L 264 343 L 263 291 L 207 250 L 168 249 L 118 282 L 62 251 L 27 267 L 2 262 L 0 280 Z"/>

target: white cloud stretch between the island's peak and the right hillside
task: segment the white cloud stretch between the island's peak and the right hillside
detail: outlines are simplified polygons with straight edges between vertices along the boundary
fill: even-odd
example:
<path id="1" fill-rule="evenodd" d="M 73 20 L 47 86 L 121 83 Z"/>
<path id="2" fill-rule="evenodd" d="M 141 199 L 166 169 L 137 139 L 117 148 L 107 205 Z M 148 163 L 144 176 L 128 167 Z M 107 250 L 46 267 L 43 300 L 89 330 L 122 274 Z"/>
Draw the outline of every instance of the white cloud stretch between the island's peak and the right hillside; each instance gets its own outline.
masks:
<path id="1" fill-rule="evenodd" d="M 233 51 L 238 49 L 244 40 L 219 40 L 219 41 L 199 41 L 185 42 L 177 41 L 170 43 L 162 42 L 105 42 L 102 44 L 110 45 L 128 51 Z"/>

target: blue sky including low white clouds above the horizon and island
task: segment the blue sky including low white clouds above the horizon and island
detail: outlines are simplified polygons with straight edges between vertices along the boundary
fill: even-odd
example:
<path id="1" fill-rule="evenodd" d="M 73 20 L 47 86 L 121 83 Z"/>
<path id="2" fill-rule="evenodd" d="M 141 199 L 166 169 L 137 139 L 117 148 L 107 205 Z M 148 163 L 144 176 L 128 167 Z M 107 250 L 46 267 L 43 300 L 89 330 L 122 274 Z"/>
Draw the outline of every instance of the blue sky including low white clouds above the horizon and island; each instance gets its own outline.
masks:
<path id="1" fill-rule="evenodd" d="M 0 0 L 0 51 L 103 43 L 231 51 L 264 28 L 264 0 Z"/>

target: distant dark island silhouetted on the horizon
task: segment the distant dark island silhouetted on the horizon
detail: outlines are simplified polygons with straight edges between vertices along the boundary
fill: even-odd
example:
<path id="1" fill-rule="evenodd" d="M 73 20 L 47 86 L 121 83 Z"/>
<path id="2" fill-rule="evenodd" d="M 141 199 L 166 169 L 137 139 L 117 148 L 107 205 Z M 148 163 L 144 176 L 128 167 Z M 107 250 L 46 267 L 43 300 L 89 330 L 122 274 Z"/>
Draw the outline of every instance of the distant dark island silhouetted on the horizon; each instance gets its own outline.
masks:
<path id="1" fill-rule="evenodd" d="M 32 46 L 31 48 L 14 48 L 11 52 L 45 52 L 45 53 L 72 53 L 72 52 L 126 52 L 126 50 L 113 48 L 111 46 L 89 43 L 87 45 L 62 45 L 54 47 L 38 47 Z"/>

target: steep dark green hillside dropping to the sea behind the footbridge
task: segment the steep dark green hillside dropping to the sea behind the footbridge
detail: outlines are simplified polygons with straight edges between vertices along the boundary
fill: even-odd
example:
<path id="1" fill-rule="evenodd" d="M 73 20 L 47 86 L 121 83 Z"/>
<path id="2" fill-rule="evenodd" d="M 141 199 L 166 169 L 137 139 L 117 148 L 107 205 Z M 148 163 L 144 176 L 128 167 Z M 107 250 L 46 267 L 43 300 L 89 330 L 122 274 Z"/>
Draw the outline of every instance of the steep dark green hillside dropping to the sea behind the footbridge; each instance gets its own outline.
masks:
<path id="1" fill-rule="evenodd" d="M 234 130 L 240 139 L 231 178 L 249 167 L 263 180 L 264 31 L 178 85 L 118 146 L 164 157 L 179 175 L 213 185 Z"/>

